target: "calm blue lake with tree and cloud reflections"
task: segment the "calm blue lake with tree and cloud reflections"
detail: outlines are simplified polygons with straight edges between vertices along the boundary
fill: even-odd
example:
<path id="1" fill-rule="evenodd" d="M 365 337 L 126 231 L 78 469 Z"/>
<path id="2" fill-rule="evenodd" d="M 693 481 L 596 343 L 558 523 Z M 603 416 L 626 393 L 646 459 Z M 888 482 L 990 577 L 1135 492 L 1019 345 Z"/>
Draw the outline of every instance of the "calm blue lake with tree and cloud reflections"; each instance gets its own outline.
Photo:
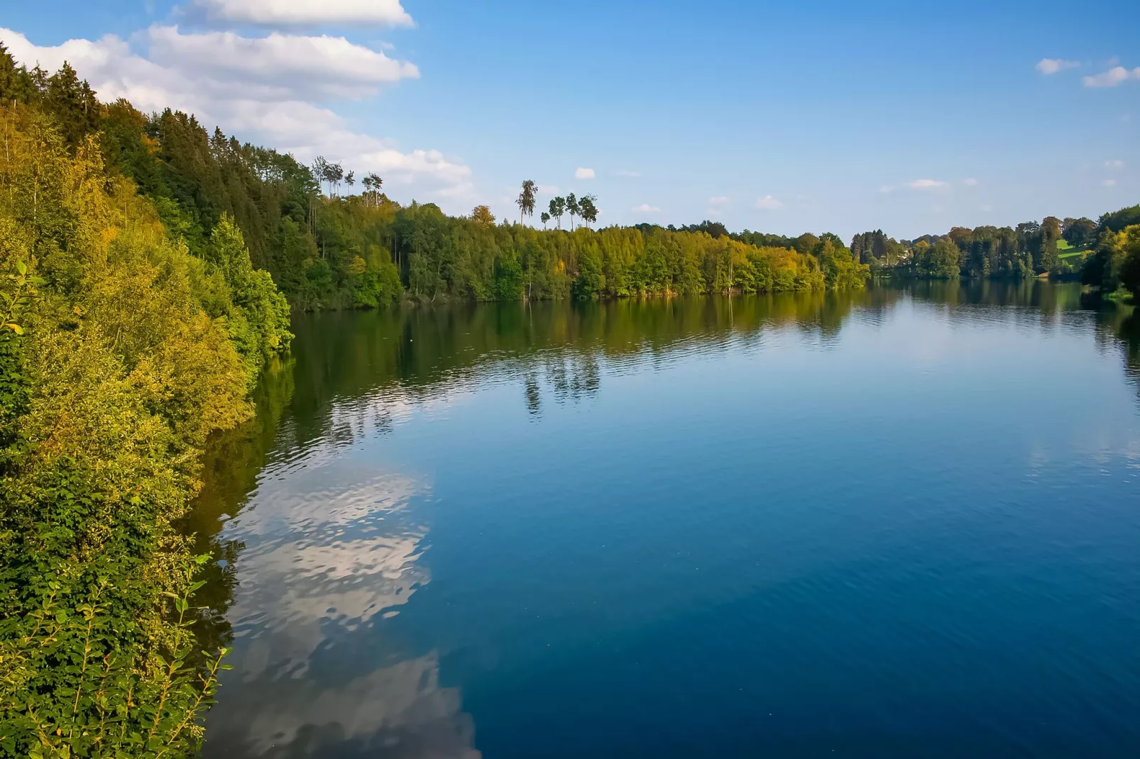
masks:
<path id="1" fill-rule="evenodd" d="M 1078 286 L 304 315 L 192 520 L 205 756 L 1140 756 Z"/>

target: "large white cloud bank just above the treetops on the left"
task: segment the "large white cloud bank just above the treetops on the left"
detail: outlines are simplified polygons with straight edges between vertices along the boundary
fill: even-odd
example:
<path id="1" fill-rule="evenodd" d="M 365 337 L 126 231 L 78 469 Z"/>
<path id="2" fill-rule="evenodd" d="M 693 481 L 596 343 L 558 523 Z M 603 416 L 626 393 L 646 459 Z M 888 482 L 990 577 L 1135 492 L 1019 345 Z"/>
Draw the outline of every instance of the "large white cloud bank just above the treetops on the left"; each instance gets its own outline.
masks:
<path id="1" fill-rule="evenodd" d="M 471 193 L 471 169 L 462 162 L 439 150 L 401 150 L 390 140 L 350 129 L 336 113 L 317 105 L 337 96 L 364 97 L 409 75 L 415 68 L 410 64 L 339 38 L 246 39 L 181 34 L 173 26 L 155 26 L 142 36 L 152 42 L 150 59 L 115 35 L 41 47 L 0 28 L 0 41 L 17 62 L 55 70 L 67 60 L 101 100 L 127 98 L 145 113 L 186 111 L 207 129 L 217 124 L 300 161 L 324 155 L 347 169 L 376 171 L 385 188 L 406 186 L 440 197 Z"/>

